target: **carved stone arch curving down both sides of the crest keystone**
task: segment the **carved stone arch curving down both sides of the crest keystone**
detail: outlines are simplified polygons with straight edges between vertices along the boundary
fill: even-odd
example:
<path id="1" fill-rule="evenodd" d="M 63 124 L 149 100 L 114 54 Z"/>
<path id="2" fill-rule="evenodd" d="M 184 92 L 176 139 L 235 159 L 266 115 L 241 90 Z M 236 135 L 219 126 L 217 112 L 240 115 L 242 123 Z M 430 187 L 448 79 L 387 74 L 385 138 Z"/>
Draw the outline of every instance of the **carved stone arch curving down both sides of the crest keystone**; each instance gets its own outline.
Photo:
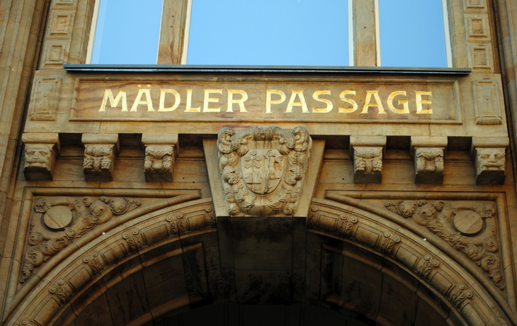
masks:
<path id="1" fill-rule="evenodd" d="M 307 276 L 307 303 L 334 310 L 344 308 L 380 325 L 395 325 L 378 312 L 368 316 L 368 305 L 351 303 L 336 288 L 336 280 L 343 279 L 343 274 L 335 273 L 336 262 L 349 259 L 378 269 L 383 275 L 407 284 L 406 288 L 411 288 L 411 282 L 418 283 L 420 286 L 410 291 L 415 291 L 452 325 L 512 324 L 513 316 L 505 311 L 500 298 L 487 290 L 491 283 L 477 285 L 481 276 L 465 269 L 465 264 L 458 262 L 461 257 L 443 250 L 439 242 L 433 242 L 432 235 L 413 229 L 396 214 L 353 198 L 327 198 L 334 201 L 313 199 L 307 217 L 307 237 L 322 239 L 313 242 L 311 249 L 307 245 L 307 257 L 311 250 L 319 252 L 315 269 L 311 270 L 307 260 L 307 275 L 314 274 L 318 279 L 309 284 L 314 275 Z M 142 325 L 187 306 L 213 303 L 210 296 L 224 291 L 224 285 L 209 279 L 207 274 L 214 266 L 209 266 L 206 253 L 220 252 L 212 199 L 171 204 L 124 223 L 114 223 L 106 229 L 105 237 L 92 237 L 87 246 L 76 249 L 48 271 L 45 279 L 17 305 L 6 325 L 66 325 L 111 288 L 132 278 L 143 279 L 143 269 L 149 271 L 159 264 L 181 265 L 176 276 L 183 278 L 185 291 L 167 300 L 157 298 L 155 305 L 133 316 L 125 325 Z M 423 235 L 428 235 L 429 240 L 423 242 Z M 379 264 L 379 259 L 392 264 L 393 269 Z M 404 283 L 404 278 L 409 282 Z M 156 293 L 168 290 L 160 288 L 159 283 L 152 286 L 158 286 Z M 314 287 L 317 289 L 312 291 Z M 222 297 L 234 300 L 225 293 Z"/>

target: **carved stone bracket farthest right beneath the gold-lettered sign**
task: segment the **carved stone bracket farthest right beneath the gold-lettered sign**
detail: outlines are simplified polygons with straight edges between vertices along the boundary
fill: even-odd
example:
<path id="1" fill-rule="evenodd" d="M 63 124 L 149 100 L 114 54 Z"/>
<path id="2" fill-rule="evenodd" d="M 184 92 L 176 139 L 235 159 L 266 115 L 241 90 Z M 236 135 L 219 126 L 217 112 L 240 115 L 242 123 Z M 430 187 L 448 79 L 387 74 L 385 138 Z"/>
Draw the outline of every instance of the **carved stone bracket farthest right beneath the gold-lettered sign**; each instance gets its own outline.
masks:
<path id="1" fill-rule="evenodd" d="M 504 184 L 508 137 L 472 137 L 476 184 Z"/>

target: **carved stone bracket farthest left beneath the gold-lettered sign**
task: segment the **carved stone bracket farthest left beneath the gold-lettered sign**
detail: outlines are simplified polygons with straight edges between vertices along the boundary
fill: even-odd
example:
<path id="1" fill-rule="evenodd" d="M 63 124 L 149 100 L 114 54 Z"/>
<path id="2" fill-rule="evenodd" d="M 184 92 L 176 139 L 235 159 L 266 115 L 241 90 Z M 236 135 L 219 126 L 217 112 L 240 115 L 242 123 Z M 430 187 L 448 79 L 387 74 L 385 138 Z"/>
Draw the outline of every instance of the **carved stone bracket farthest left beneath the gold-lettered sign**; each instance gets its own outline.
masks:
<path id="1" fill-rule="evenodd" d="M 61 150 L 59 134 L 24 133 L 21 140 L 25 143 L 25 179 L 52 180 L 55 162 Z"/>

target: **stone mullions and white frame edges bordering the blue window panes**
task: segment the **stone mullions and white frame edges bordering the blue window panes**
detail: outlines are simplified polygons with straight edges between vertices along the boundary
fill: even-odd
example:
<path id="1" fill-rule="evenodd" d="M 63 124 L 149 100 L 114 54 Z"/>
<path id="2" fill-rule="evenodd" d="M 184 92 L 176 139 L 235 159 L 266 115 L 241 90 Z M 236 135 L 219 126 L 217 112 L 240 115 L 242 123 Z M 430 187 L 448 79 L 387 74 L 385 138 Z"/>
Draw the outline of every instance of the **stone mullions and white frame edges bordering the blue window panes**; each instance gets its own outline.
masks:
<path id="1" fill-rule="evenodd" d="M 381 67 L 379 0 L 348 1 L 348 65 Z M 441 0 L 445 56 L 448 68 L 453 67 L 448 1 Z M 454 0 L 453 0 L 454 1 Z M 94 0 L 89 35 L 95 35 L 101 0 Z M 163 0 L 156 64 L 187 64 L 188 40 L 193 0 Z M 372 23 L 373 22 L 373 23 Z M 89 38 L 86 63 L 91 63 L 94 37 Z M 361 40 L 361 42 L 357 42 Z"/>

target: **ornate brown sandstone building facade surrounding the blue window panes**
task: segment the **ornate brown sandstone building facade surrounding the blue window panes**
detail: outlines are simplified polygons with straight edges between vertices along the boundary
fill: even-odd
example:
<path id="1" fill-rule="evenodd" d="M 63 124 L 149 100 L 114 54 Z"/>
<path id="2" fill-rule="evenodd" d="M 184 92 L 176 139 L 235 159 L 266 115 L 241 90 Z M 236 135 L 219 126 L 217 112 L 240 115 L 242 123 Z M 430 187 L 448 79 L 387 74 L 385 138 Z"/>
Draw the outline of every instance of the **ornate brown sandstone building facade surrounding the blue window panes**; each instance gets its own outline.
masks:
<path id="1" fill-rule="evenodd" d="M 1 325 L 516 325 L 517 3 L 445 3 L 403 69 L 374 0 L 344 68 L 182 65 L 186 0 L 85 64 L 95 1 L 2 1 Z"/>

